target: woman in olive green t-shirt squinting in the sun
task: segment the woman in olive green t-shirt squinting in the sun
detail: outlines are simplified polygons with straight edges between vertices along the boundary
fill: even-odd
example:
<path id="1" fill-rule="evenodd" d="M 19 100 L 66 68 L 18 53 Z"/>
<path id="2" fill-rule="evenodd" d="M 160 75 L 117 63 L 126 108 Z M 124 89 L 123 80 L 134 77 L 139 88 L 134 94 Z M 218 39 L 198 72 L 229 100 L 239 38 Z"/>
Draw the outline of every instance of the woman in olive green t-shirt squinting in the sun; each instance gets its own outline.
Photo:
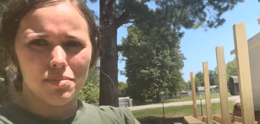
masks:
<path id="1" fill-rule="evenodd" d="M 96 63 L 99 33 L 80 0 L 11 0 L 1 42 L 18 70 L 20 96 L 0 109 L 0 124 L 132 124 L 130 110 L 78 101 Z M 8 59 L 8 58 L 6 58 Z"/>

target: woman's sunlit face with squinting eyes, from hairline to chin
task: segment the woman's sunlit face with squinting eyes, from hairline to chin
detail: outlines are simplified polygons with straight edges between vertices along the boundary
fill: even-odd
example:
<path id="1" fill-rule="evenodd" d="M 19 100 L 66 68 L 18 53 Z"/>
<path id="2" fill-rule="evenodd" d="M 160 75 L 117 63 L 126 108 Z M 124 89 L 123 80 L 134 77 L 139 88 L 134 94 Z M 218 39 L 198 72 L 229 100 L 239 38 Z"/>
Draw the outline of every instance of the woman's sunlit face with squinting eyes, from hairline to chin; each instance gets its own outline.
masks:
<path id="1" fill-rule="evenodd" d="M 87 22 L 71 3 L 29 11 L 15 38 L 23 92 L 50 105 L 70 102 L 86 81 L 91 51 Z"/>

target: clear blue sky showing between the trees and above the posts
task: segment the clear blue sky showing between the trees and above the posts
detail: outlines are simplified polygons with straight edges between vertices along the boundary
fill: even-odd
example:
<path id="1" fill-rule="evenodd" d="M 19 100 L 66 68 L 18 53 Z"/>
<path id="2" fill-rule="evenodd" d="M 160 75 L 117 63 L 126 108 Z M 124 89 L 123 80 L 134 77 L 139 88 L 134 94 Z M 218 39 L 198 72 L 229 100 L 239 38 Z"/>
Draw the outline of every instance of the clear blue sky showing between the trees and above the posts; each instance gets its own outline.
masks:
<path id="1" fill-rule="evenodd" d="M 94 4 L 88 2 L 87 5 L 95 11 L 95 14 L 99 15 L 99 2 Z M 149 6 L 153 7 L 152 4 Z M 187 58 L 184 61 L 182 73 L 186 82 L 190 80 L 190 72 L 196 74 L 198 71 L 203 71 L 202 62 L 208 62 L 209 70 L 213 70 L 217 66 L 217 46 L 224 47 L 226 63 L 233 60 L 235 55 L 230 55 L 230 51 L 234 49 L 233 25 L 235 23 L 245 23 L 247 39 L 260 32 L 260 25 L 256 21 L 260 17 L 260 3 L 257 0 L 245 0 L 243 3 L 238 3 L 233 10 L 224 13 L 222 17 L 226 19 L 226 22 L 217 29 L 207 31 L 204 31 L 204 28 L 182 29 L 185 34 L 180 46 L 182 53 Z M 121 44 L 122 37 L 127 36 L 127 30 L 121 26 L 117 32 L 117 44 Z M 125 62 L 118 62 L 119 70 L 124 70 L 124 66 Z M 123 75 L 118 74 L 118 81 L 126 82 L 126 79 Z"/>

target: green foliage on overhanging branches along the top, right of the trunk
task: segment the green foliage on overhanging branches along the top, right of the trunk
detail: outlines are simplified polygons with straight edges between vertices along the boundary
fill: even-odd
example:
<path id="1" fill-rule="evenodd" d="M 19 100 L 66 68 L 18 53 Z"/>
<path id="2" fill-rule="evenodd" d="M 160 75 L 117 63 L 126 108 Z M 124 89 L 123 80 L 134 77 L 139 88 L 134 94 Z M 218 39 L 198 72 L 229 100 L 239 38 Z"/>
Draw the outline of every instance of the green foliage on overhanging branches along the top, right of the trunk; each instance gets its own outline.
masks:
<path id="1" fill-rule="evenodd" d="M 145 3 L 156 7 L 150 9 Z M 244 0 L 118 0 L 116 15 L 127 14 L 129 22 L 135 25 L 142 23 L 150 27 L 161 26 L 161 22 L 171 23 L 176 29 L 198 28 L 200 26 L 217 28 L 225 19 L 221 15 L 232 10 L 238 2 Z"/>

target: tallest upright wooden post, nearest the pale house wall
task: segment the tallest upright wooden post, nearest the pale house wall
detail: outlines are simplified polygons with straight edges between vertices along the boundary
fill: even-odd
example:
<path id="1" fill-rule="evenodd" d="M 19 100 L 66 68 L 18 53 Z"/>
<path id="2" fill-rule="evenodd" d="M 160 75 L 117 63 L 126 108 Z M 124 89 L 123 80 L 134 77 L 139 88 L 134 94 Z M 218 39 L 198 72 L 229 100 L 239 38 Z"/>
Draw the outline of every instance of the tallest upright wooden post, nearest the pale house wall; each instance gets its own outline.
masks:
<path id="1" fill-rule="evenodd" d="M 254 105 L 245 23 L 233 25 L 243 124 L 254 124 Z"/>

